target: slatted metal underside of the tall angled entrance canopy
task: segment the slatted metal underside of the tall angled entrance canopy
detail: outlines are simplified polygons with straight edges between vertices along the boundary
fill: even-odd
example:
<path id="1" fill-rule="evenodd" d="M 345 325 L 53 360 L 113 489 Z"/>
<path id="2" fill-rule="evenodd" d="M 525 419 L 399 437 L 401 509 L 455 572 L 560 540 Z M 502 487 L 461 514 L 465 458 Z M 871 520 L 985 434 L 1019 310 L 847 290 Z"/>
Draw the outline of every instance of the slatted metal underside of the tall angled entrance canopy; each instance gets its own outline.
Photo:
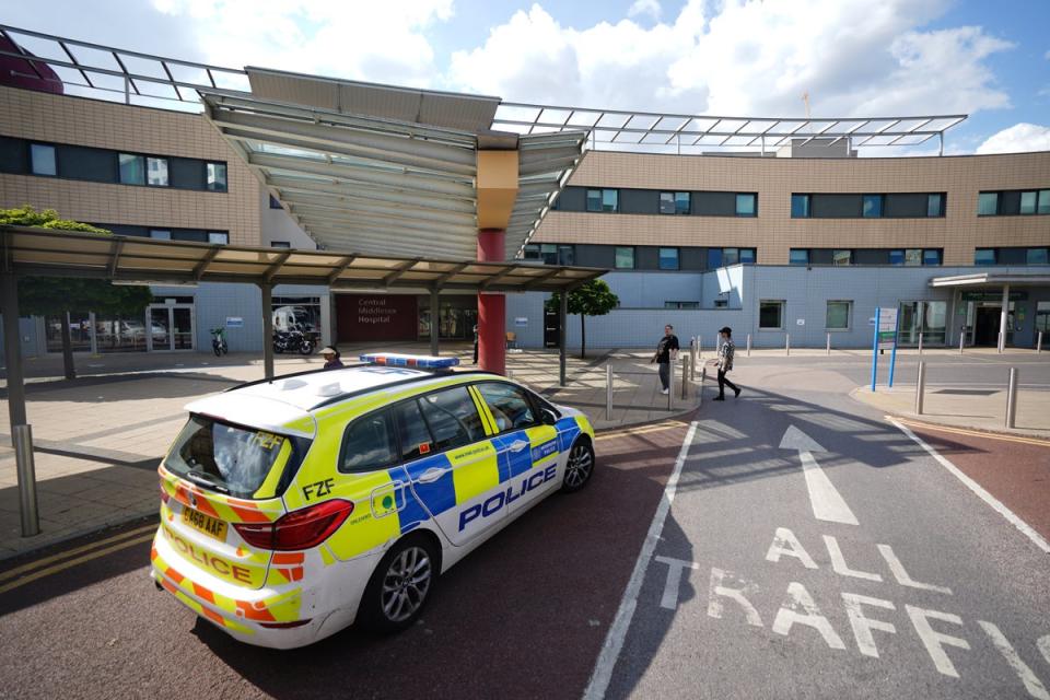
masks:
<path id="1" fill-rule="evenodd" d="M 476 133 L 241 93 L 200 94 L 207 118 L 322 247 L 477 254 Z M 584 138 L 517 139 L 520 188 L 506 257 L 539 226 L 579 162 Z"/>

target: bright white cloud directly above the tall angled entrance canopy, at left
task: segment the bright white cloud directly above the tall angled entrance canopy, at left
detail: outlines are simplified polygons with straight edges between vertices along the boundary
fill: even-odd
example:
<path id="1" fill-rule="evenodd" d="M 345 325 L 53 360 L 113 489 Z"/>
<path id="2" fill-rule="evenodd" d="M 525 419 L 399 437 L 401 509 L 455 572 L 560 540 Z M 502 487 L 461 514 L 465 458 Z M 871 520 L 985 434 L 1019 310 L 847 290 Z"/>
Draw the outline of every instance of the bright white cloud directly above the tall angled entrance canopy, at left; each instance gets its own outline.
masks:
<path id="1" fill-rule="evenodd" d="M 192 22 L 200 52 L 219 66 L 260 66 L 425 85 L 436 72 L 427 30 L 452 0 L 153 0 Z"/>

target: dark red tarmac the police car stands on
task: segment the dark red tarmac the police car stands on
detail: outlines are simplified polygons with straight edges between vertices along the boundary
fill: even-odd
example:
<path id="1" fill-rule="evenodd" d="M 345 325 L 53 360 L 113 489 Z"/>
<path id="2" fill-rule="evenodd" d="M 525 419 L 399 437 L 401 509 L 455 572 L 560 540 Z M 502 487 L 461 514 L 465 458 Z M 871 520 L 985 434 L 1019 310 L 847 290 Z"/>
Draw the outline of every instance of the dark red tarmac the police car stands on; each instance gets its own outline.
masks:
<path id="1" fill-rule="evenodd" d="M 234 642 L 154 588 L 147 533 L 24 585 L 33 571 L 4 571 L 27 560 L 4 562 L 0 698 L 578 698 L 686 429 L 600 435 L 586 489 L 545 500 L 453 568 L 395 637 L 351 629 L 290 652 Z M 36 559 L 68 564 L 90 541 Z"/>

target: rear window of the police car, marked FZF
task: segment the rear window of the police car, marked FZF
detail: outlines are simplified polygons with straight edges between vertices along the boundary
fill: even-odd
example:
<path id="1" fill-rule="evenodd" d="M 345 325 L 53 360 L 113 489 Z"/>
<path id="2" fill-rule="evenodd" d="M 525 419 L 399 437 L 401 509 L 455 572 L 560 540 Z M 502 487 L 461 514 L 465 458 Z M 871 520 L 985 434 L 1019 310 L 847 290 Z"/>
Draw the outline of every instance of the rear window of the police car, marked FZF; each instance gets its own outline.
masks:
<path id="1" fill-rule="evenodd" d="M 164 460 L 170 471 L 238 498 L 252 498 L 276 465 L 284 464 L 288 438 L 194 416 Z"/>

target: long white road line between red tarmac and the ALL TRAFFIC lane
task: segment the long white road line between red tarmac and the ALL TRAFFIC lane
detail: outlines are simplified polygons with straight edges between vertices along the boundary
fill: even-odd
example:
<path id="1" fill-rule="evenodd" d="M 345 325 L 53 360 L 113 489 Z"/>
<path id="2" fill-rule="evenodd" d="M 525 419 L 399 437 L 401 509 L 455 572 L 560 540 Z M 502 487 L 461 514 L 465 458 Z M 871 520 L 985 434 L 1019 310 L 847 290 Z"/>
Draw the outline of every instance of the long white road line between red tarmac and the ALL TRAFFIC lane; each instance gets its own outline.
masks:
<path id="1" fill-rule="evenodd" d="M 653 522 L 649 526 L 649 533 L 645 535 L 645 541 L 642 544 L 642 550 L 638 553 L 638 560 L 634 562 L 634 571 L 631 573 L 630 581 L 627 582 L 627 588 L 623 591 L 623 597 L 620 599 L 620 607 L 616 611 L 616 618 L 609 627 L 609 633 L 605 637 L 605 644 L 602 645 L 602 652 L 598 654 L 598 661 L 594 665 L 594 672 L 591 674 L 591 681 L 587 689 L 583 691 L 585 700 L 599 700 L 605 698 L 605 692 L 609 688 L 609 681 L 612 679 L 612 668 L 616 666 L 616 660 L 620 656 L 623 649 L 623 640 L 627 638 L 627 630 L 631 626 L 631 619 L 634 617 L 634 608 L 638 606 L 638 594 L 642 590 L 642 581 L 645 579 L 645 570 L 653 558 L 653 551 L 660 541 L 660 535 L 664 530 L 664 521 L 667 520 L 667 513 L 670 511 L 670 504 L 675 500 L 675 492 L 678 490 L 678 478 L 681 476 L 681 467 L 686 464 L 686 457 L 689 455 L 689 447 L 692 445 L 693 435 L 697 432 L 697 421 L 689 423 L 689 431 L 686 439 L 681 442 L 681 450 L 678 452 L 678 458 L 675 460 L 675 468 L 667 479 L 667 486 L 664 487 L 664 494 L 656 506 L 656 513 L 653 514 Z"/>

